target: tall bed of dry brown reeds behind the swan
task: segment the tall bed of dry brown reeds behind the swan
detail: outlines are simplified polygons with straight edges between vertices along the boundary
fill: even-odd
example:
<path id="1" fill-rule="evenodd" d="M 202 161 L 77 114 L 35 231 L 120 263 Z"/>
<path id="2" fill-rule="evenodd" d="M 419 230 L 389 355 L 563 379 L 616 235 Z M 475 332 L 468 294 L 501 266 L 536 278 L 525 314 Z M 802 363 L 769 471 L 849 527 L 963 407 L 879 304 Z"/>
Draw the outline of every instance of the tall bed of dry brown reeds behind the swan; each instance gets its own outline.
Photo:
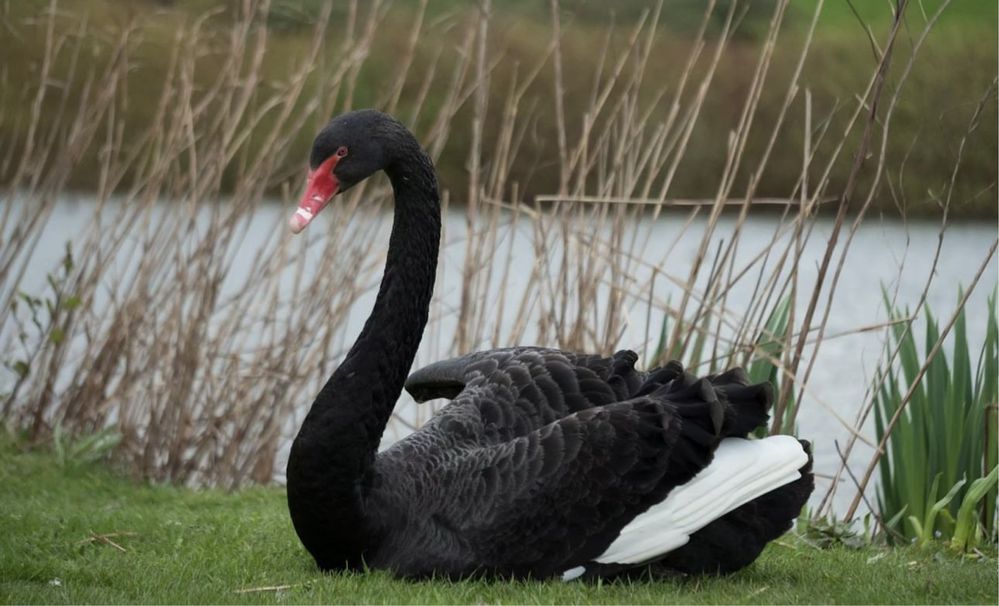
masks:
<path id="1" fill-rule="evenodd" d="M 630 347 L 647 365 L 680 358 L 702 373 L 750 365 L 780 387 L 770 430 L 791 431 L 852 237 L 878 195 L 905 68 L 936 16 L 898 51 L 899 3 L 891 30 L 876 35 L 866 90 L 835 110 L 849 119 L 833 130 L 802 84 L 821 2 L 806 35 L 787 43 L 799 56 L 791 77 L 771 77 L 788 4 L 775 3 L 748 93 L 732 100 L 739 119 L 719 142 L 726 160 L 714 196 L 678 200 L 671 188 L 701 110 L 721 94 L 716 75 L 743 16 L 738 2 L 708 3 L 686 56 L 670 57 L 683 66 L 676 79 L 658 77 L 655 41 L 669 9 L 660 4 L 625 39 L 609 36 L 594 49 L 591 84 L 579 90 L 563 73 L 561 32 L 571 24 L 553 0 L 544 52 L 516 63 L 497 106 L 488 93 L 508 57 L 490 43 L 488 1 L 460 20 L 429 22 L 420 12 L 402 41 L 379 36 L 394 10 L 386 4 L 350 3 L 333 22 L 322 3 L 309 44 L 281 57 L 285 76 L 274 81 L 261 67 L 275 60 L 269 4 L 245 0 L 234 23 L 222 27 L 207 14 L 154 47 L 167 49 L 169 67 L 152 119 L 134 124 L 130 78 L 149 52 L 146 24 L 95 32 L 53 1 L 39 19 L 17 24 L 44 35 L 45 59 L 31 82 L 5 92 L 31 107 L 16 131 L 22 140 L 0 151 L 5 423 L 35 442 L 114 432 L 103 442 L 114 444 L 113 457 L 158 480 L 271 481 L 304 407 L 349 345 L 351 310 L 364 313 L 377 284 L 390 192 L 378 179 L 352 190 L 304 238 L 286 234 L 283 214 L 269 229 L 254 226 L 273 197 L 293 207 L 307 156 L 302 133 L 354 107 L 372 49 L 391 43 L 401 50 L 384 71 L 378 107 L 411 125 L 435 159 L 463 146 L 468 174 L 467 187 L 445 183 L 444 191 L 464 220 L 448 224 L 441 268 L 457 263 L 460 280 L 438 289 L 417 363 L 532 342 Z M 87 53 L 101 58 L 100 69 L 78 67 Z M 434 59 L 417 64 L 417 54 Z M 888 85 L 892 63 L 902 69 Z M 539 95 L 543 72 L 553 84 Z M 427 102 L 430 87 L 445 91 L 435 96 L 443 101 Z M 781 99 L 767 118 L 764 89 Z M 569 95 L 586 99 L 581 122 L 566 117 Z M 541 104 L 554 106 L 557 153 L 548 161 L 559 184 L 527 199 L 511 166 L 530 154 Z M 665 118 L 656 117 L 664 107 Z M 760 199 L 757 185 L 792 116 L 807 124 L 800 178 L 784 198 Z M 488 144 L 487 123 L 500 133 Z M 750 155 L 753 132 L 768 137 Z M 51 273 L 42 290 L 26 292 L 42 230 L 84 158 L 99 167 L 93 216 L 62 263 L 43 270 Z M 843 163 L 850 179 L 833 188 L 829 176 Z M 955 175 L 959 166 L 960 156 Z M 223 193 L 226 183 L 232 193 Z M 772 237 L 743 241 L 747 217 L 762 205 L 776 211 Z M 812 277 L 799 259 L 822 206 L 835 221 Z M 720 221 L 726 210 L 731 227 Z M 653 238 L 649 226 L 666 211 L 683 225 L 679 237 L 699 242 L 692 262 L 676 258 L 676 241 Z M 695 224 L 703 233 L 690 234 Z M 657 294 L 664 284 L 666 298 Z M 740 288 L 751 296 L 736 298 Z M 644 338 L 623 342 L 635 324 Z M 429 410 L 404 403 L 395 429 Z"/>

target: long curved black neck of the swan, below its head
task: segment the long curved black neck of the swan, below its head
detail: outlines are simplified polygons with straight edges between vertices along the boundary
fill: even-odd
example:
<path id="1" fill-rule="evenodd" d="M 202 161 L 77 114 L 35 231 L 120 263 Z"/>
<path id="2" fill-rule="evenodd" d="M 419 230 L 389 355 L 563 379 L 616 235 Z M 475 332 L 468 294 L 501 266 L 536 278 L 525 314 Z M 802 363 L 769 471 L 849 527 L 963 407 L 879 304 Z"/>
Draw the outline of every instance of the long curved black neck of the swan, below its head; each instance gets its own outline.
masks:
<path id="1" fill-rule="evenodd" d="M 395 218 L 378 297 L 288 458 L 292 521 L 324 568 L 359 565 L 367 546 L 361 507 L 368 471 L 420 345 L 437 270 L 441 216 L 429 158 L 414 141 L 385 172 Z"/>

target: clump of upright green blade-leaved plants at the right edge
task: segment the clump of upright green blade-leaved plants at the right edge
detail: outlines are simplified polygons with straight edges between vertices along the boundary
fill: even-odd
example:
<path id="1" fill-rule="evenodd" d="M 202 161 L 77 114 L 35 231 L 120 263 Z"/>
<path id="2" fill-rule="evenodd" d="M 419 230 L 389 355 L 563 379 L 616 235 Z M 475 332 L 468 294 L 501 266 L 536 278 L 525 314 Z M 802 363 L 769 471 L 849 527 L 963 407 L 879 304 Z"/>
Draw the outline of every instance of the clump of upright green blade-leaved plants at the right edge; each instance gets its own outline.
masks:
<path id="1" fill-rule="evenodd" d="M 879 461 L 878 509 L 886 520 L 905 515 L 908 524 L 896 530 L 920 544 L 944 538 L 955 548 L 965 549 L 974 546 L 979 535 L 995 535 L 996 426 L 991 413 L 999 373 L 995 303 L 993 292 L 974 372 L 963 309 L 954 324 L 949 362 L 941 351 L 926 364 L 912 326 L 892 325 L 899 367 L 879 371 L 881 387 L 874 406 L 879 441 L 890 419 L 899 418 Z M 908 316 L 894 309 L 887 297 L 886 306 L 893 319 Z M 926 351 L 939 338 L 937 323 L 927 309 Z M 924 365 L 926 372 L 913 387 Z M 912 396 L 905 402 L 903 394 L 909 391 Z M 946 490 L 942 496 L 941 490 Z"/>

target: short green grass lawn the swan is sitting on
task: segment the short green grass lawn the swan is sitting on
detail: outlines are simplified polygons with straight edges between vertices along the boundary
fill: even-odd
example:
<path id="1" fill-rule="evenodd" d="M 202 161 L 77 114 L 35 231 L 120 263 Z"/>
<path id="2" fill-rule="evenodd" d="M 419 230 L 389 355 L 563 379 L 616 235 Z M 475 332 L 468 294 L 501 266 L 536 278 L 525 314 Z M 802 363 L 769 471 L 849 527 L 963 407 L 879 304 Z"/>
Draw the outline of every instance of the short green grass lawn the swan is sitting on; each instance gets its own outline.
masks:
<path id="1" fill-rule="evenodd" d="M 994 557 L 819 550 L 790 535 L 723 578 L 586 585 L 323 575 L 298 544 L 281 489 L 136 485 L 101 467 L 62 469 L 52 455 L 9 443 L 0 445 L 0 511 L 5 603 L 997 602 Z"/>

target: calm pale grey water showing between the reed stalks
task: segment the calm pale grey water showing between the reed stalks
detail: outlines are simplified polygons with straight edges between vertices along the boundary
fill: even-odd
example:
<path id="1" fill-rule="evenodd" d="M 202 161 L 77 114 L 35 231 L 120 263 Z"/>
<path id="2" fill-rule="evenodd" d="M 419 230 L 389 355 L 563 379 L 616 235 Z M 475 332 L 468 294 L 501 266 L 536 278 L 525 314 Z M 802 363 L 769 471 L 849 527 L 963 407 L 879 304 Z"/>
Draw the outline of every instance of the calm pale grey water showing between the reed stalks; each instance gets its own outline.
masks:
<path id="1" fill-rule="evenodd" d="M 76 236 L 81 223 L 87 221 L 92 212 L 93 203 L 87 199 L 60 201 L 32 257 L 31 271 L 24 284 L 25 290 L 30 292 L 32 288 L 43 286 L 45 272 L 51 270 L 61 258 L 64 242 Z M 247 237 L 242 244 L 245 252 L 252 253 L 258 246 L 255 243 L 264 241 L 272 230 L 285 229 L 288 212 L 289 209 L 276 204 L 258 211 L 247 226 Z M 686 215 L 668 214 L 654 223 L 649 222 L 641 226 L 641 229 L 647 231 L 649 235 L 649 244 L 641 250 L 643 259 L 678 277 L 686 276 L 704 229 L 704 222 L 695 220 L 686 232 L 680 235 L 685 217 Z M 387 234 L 390 219 L 389 216 L 379 219 L 381 224 L 375 233 L 380 236 Z M 750 219 L 740 238 L 740 256 L 744 255 L 748 259 L 762 250 L 773 238 L 777 220 L 774 215 Z M 514 279 L 509 285 L 513 290 L 523 287 L 529 273 L 530 266 L 527 264 L 534 260 L 531 247 L 528 246 L 531 238 L 530 226 L 526 220 L 524 223 L 518 227 L 514 236 L 514 246 L 511 248 L 514 250 L 514 267 L 523 269 L 514 272 Z M 732 219 L 723 218 L 715 232 L 714 240 L 727 242 L 731 237 L 732 228 Z M 310 230 L 316 229 L 322 227 L 318 225 L 310 227 Z M 831 220 L 819 220 L 802 255 L 800 267 L 803 273 L 797 312 L 799 314 L 804 313 L 811 285 L 814 283 L 815 273 L 831 230 Z M 461 260 L 465 248 L 464 233 L 464 215 L 460 212 L 449 214 L 446 218 L 442 273 L 437 285 L 437 295 L 443 299 L 446 306 L 453 308 L 457 308 L 460 294 Z M 863 406 L 871 376 L 882 355 L 884 347 L 882 331 L 863 333 L 855 331 L 886 319 L 881 298 L 882 285 L 890 291 L 897 289 L 900 305 L 915 306 L 925 286 L 938 233 L 939 226 L 932 222 L 903 224 L 898 221 L 870 219 L 855 236 L 843 268 L 827 328 L 827 335 L 846 334 L 829 338 L 823 343 L 816 359 L 808 392 L 802 402 L 799 418 L 799 434 L 815 444 L 816 471 L 819 474 L 831 475 L 837 468 L 839 457 L 836 454 L 835 443 L 838 441 L 844 444 L 848 439 L 850 432 L 845 422 L 852 423 Z M 938 318 L 946 319 L 950 316 L 955 307 L 958 287 L 971 282 L 995 237 L 996 225 L 991 222 L 956 223 L 947 228 L 943 252 L 928 298 L 929 305 Z M 518 239 L 523 240 L 522 246 Z M 710 250 L 715 250 L 714 244 Z M 252 257 L 250 254 L 242 254 L 244 252 L 242 250 L 240 252 L 237 259 Z M 836 258 L 838 259 L 838 255 Z M 497 259 L 505 260 L 505 253 L 497 255 Z M 986 296 L 995 288 L 996 267 L 996 260 L 993 259 L 968 308 L 969 337 L 973 346 L 981 343 L 986 317 Z M 232 277 L 241 277 L 241 271 L 245 274 L 247 268 L 241 268 L 237 260 Z M 647 275 L 648 271 L 637 270 L 638 283 L 644 283 Z M 728 305 L 733 311 L 738 313 L 745 310 L 746 305 L 743 302 L 751 296 L 754 282 L 755 276 L 745 279 L 731 292 Z M 493 294 L 495 293 L 491 293 L 491 296 Z M 672 299 L 676 302 L 680 299 L 681 291 L 666 280 L 660 279 L 654 294 L 660 300 Z M 647 293 L 643 293 L 643 297 L 645 296 Z M 351 311 L 346 339 L 353 339 L 360 330 L 371 301 L 370 293 L 357 301 Z M 822 302 L 824 306 L 825 294 Z M 628 323 L 619 346 L 642 352 L 646 334 L 644 309 L 637 303 L 631 308 L 636 311 L 630 315 L 632 321 Z M 515 319 L 506 317 L 503 318 L 503 323 L 512 324 Z M 440 331 L 446 335 L 453 326 L 453 318 L 444 318 L 440 324 Z M 530 336 L 531 333 L 528 331 L 524 339 L 525 344 L 530 342 Z M 431 345 L 425 343 L 417 365 L 433 359 L 432 349 Z M 804 365 L 801 370 L 804 371 Z M 406 402 L 400 403 L 400 414 L 409 414 L 407 406 Z M 397 439 L 402 433 L 399 427 L 390 427 L 386 441 Z M 863 433 L 870 436 L 873 430 L 867 427 Z M 862 471 L 871 454 L 870 446 L 858 444 L 850 458 L 851 465 L 857 473 Z M 283 469 L 283 465 L 281 468 Z M 816 493 L 824 494 L 828 485 L 828 479 L 820 478 Z M 852 494 L 852 486 L 843 486 L 836 500 L 837 508 L 842 508 Z"/>

